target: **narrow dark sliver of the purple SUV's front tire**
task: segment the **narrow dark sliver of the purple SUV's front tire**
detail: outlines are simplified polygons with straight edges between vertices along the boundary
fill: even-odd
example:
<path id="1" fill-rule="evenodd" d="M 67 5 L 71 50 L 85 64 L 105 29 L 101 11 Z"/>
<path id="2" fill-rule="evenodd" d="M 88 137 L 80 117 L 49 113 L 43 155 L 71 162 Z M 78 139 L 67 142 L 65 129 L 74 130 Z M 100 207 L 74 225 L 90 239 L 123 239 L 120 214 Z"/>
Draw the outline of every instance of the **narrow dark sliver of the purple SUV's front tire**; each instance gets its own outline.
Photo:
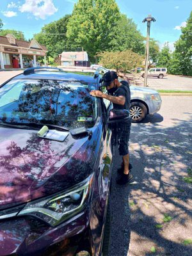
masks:
<path id="1" fill-rule="evenodd" d="M 108 256 L 109 253 L 109 245 L 110 245 L 110 237 L 111 237 L 111 203 L 110 203 L 110 193 L 108 198 L 108 209 L 106 213 L 106 223 L 104 227 L 104 237 L 102 242 L 102 256 Z"/>

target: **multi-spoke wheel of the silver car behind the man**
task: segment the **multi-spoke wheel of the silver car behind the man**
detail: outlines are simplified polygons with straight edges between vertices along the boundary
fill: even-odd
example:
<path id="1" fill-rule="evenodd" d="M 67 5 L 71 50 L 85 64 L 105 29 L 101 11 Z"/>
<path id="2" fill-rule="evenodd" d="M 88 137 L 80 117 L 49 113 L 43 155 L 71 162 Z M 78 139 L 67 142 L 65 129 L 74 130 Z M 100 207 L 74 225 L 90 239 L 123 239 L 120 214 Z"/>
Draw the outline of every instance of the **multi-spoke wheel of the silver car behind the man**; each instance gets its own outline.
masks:
<path id="1" fill-rule="evenodd" d="M 131 102 L 129 111 L 132 117 L 132 123 L 141 122 L 147 115 L 147 108 L 141 102 Z"/>

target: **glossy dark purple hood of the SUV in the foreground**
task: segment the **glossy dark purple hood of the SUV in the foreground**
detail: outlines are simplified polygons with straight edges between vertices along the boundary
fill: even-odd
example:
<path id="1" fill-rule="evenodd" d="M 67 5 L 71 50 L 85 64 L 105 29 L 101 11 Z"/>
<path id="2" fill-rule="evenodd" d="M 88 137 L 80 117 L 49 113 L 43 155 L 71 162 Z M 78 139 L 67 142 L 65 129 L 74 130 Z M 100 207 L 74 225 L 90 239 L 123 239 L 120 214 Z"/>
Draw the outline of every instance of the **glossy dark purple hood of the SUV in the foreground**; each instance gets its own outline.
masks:
<path id="1" fill-rule="evenodd" d="M 34 130 L 0 127 L 0 209 L 51 195 L 93 172 L 99 128 L 89 140 L 39 138 Z M 95 152 L 96 151 L 96 152 Z"/>

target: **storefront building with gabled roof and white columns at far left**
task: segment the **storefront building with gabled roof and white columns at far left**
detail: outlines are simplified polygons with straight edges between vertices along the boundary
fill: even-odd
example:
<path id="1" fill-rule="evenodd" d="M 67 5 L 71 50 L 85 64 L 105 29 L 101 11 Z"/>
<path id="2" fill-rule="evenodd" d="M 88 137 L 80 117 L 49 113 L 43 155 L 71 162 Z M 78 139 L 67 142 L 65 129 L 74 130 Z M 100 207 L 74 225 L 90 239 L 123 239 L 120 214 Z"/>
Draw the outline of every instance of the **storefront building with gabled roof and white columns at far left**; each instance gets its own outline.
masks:
<path id="1" fill-rule="evenodd" d="M 35 39 L 28 42 L 18 40 L 11 34 L 0 36 L 1 69 L 36 67 L 38 56 L 44 57 L 46 65 L 46 52 L 47 48 Z"/>

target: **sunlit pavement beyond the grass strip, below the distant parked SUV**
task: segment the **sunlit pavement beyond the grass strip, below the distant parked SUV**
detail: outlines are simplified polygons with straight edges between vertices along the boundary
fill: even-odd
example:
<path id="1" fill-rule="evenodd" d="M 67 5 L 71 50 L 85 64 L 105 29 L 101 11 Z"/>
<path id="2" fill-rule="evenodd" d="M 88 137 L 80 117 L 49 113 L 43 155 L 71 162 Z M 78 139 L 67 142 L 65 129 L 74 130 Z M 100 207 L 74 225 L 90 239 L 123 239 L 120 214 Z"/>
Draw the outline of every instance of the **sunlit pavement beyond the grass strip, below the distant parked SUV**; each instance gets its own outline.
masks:
<path id="1" fill-rule="evenodd" d="M 148 77 L 147 83 L 150 88 L 156 90 L 181 90 L 192 91 L 192 78 L 168 75 L 163 79 Z"/>

